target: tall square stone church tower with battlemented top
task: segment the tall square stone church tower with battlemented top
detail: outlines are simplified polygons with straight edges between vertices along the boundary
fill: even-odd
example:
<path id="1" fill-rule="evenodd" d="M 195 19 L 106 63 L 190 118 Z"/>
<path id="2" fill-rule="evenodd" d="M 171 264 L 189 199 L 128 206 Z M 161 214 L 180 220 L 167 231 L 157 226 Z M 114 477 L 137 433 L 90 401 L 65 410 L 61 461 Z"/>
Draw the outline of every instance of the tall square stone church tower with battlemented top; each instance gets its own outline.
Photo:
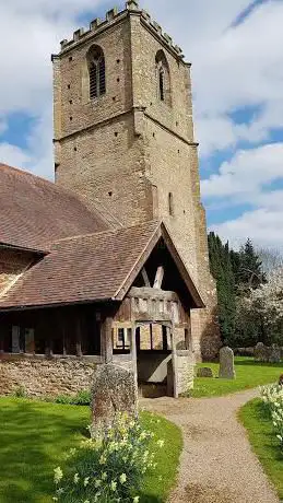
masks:
<path id="1" fill-rule="evenodd" d="M 190 63 L 135 0 L 62 40 L 52 62 L 56 183 L 113 226 L 165 222 L 208 306 L 192 314 L 196 354 L 213 354 Z"/>

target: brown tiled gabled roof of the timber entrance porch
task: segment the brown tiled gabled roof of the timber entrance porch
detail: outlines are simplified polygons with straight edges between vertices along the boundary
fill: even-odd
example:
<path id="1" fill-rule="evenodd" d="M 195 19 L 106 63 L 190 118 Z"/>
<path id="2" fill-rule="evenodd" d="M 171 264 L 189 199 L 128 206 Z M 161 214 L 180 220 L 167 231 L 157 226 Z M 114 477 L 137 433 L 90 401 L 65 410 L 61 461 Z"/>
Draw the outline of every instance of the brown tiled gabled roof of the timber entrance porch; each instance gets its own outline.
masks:
<path id="1" fill-rule="evenodd" d="M 58 241 L 0 299 L 0 309 L 121 301 L 163 237 L 196 307 L 203 302 L 161 222 Z"/>

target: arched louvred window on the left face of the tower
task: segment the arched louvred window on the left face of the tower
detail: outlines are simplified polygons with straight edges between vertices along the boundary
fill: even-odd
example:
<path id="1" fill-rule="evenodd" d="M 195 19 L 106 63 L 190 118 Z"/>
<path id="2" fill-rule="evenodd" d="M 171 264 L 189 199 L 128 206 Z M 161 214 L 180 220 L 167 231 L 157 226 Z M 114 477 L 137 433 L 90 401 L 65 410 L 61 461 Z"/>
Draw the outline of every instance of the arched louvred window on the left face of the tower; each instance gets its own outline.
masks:
<path id="1" fill-rule="evenodd" d="M 105 58 L 103 49 L 92 46 L 87 54 L 90 98 L 95 100 L 106 93 Z"/>

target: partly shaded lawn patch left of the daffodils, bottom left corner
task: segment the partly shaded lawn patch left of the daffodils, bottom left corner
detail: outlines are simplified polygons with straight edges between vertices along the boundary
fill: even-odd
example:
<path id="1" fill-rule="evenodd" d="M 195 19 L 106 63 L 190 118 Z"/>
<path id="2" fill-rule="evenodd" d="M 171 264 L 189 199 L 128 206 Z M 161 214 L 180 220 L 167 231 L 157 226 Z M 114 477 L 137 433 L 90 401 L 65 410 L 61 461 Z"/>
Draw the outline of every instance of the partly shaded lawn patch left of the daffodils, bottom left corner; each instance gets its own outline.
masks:
<path id="1" fill-rule="evenodd" d="M 7 402 L 8 403 L 8 402 Z M 85 424 L 86 425 L 86 424 Z M 0 409 L 0 501 L 50 501 L 52 470 L 80 436 L 82 416 L 62 413 L 32 401 L 14 400 Z"/>

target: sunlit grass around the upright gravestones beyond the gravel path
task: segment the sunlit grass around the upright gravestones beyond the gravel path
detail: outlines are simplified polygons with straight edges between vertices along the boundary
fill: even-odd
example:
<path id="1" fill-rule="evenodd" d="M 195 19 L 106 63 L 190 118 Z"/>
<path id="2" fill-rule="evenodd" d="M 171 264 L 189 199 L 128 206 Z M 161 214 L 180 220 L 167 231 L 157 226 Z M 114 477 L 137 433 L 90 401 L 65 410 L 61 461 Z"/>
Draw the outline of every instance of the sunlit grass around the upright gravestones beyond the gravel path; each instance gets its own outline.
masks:
<path id="1" fill-rule="evenodd" d="M 213 397 L 228 395 L 243 389 L 255 388 L 263 384 L 278 382 L 283 372 L 283 363 L 257 363 L 251 358 L 236 356 L 236 379 L 219 379 L 217 363 L 200 363 L 200 366 L 210 366 L 214 378 L 197 377 L 192 397 Z"/>

